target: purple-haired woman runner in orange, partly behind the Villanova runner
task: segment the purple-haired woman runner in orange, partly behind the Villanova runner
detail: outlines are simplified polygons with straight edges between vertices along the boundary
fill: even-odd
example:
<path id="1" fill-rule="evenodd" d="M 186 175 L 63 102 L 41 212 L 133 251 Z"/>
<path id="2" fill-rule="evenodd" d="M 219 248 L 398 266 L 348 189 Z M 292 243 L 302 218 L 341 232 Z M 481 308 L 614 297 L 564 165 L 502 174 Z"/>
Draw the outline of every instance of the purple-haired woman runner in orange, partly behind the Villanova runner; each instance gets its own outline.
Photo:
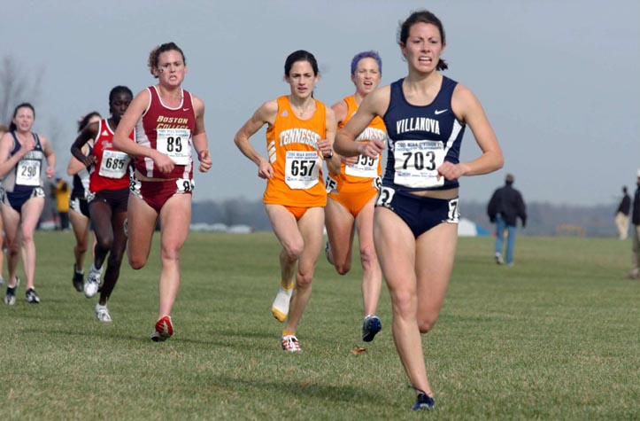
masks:
<path id="1" fill-rule="evenodd" d="M 338 130 L 358 111 L 359 104 L 382 81 L 382 60 L 375 51 L 363 51 L 351 60 L 351 82 L 356 92 L 343 98 L 331 108 L 338 121 Z M 372 140 L 386 142 L 384 121 L 376 117 L 360 133 L 359 142 Z M 351 253 L 355 230 L 358 230 L 360 261 L 362 263 L 362 300 L 365 319 L 362 340 L 374 340 L 381 331 L 382 322 L 375 316 L 382 287 L 382 270 L 374 248 L 374 201 L 377 184 L 382 175 L 382 155 L 369 158 L 364 155 L 340 158 L 337 168 L 329 166 L 327 177 L 328 200 L 325 208 L 327 227 L 327 259 L 340 275 L 351 269 Z"/>

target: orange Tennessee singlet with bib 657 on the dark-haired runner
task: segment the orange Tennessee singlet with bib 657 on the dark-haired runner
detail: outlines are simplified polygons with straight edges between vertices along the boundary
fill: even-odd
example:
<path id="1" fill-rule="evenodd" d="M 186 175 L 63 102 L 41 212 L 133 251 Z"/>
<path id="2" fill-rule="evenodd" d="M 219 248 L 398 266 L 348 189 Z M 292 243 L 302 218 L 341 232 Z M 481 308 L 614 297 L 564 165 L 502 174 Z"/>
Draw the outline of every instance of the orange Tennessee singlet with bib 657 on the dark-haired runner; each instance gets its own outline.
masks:
<path id="1" fill-rule="evenodd" d="M 315 100 L 315 113 L 309 120 L 300 120 L 288 96 L 277 101 L 278 115 L 266 129 L 266 151 L 274 176 L 266 182 L 262 201 L 287 207 L 324 207 L 327 192 L 318 141 L 326 136 L 326 105 Z"/>

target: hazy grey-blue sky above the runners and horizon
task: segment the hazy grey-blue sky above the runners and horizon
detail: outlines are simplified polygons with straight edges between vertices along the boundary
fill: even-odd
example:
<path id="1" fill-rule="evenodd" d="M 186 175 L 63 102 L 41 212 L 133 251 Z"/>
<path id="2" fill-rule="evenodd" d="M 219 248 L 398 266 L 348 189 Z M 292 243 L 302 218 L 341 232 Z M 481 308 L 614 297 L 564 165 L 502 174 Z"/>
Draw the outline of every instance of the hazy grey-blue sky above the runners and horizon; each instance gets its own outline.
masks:
<path id="1" fill-rule="evenodd" d="M 428 8 L 444 25 L 443 74 L 480 99 L 505 166 L 463 177 L 460 197 L 486 202 L 515 175 L 528 202 L 601 205 L 640 168 L 640 2 L 637 0 L 0 0 L 0 58 L 42 78 L 35 131 L 49 136 L 66 177 L 77 121 L 127 85 L 155 84 L 150 50 L 184 51 L 182 86 L 205 104 L 213 168 L 196 171 L 194 200 L 260 199 L 265 181 L 235 147 L 235 133 L 266 100 L 289 94 L 284 60 L 311 51 L 320 66 L 314 97 L 333 105 L 354 91 L 351 58 L 382 56 L 382 84 L 405 76 L 397 28 Z M 251 137 L 265 155 L 264 129 Z M 471 130 L 461 160 L 481 153 Z M 69 179 L 69 178 L 67 178 Z M 613 212 L 613 211 L 612 211 Z"/>

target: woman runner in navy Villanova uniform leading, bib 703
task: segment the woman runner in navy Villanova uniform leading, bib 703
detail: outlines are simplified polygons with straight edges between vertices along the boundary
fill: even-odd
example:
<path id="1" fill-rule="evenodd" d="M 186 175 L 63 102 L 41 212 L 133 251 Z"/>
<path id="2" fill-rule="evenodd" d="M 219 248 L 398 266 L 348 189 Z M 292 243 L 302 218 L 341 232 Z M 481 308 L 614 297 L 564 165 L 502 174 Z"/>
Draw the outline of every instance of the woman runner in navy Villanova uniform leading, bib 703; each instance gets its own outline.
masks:
<path id="1" fill-rule="evenodd" d="M 353 140 L 376 116 L 389 134 L 388 160 L 374 214 L 374 244 L 389 286 L 393 338 L 416 390 L 413 409 L 435 405 L 421 333 L 436 323 L 449 284 L 458 238 L 458 179 L 501 168 L 503 156 L 474 94 L 443 76 L 443 25 L 433 13 L 413 12 L 399 31 L 405 78 L 367 95 L 338 132 L 335 152 L 378 156 L 384 144 Z M 465 128 L 482 150 L 459 162 Z"/>

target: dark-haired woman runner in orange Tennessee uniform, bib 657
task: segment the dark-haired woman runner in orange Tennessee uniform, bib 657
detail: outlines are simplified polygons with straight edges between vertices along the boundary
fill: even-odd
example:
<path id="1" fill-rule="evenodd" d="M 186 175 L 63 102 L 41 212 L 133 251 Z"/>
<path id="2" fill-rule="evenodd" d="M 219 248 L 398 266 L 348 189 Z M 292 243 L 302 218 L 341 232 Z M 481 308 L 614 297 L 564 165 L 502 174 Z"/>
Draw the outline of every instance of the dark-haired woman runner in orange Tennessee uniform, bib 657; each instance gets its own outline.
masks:
<path id="1" fill-rule="evenodd" d="M 336 130 L 333 111 L 312 95 L 319 78 L 312 53 L 300 50 L 289 54 L 284 64 L 289 95 L 261 105 L 234 139 L 240 151 L 258 166 L 258 176 L 266 179 L 263 202 L 282 246 L 281 284 L 271 310 L 280 322 L 286 320 L 281 346 L 288 352 L 301 351 L 296 329 L 311 297 L 327 204 L 322 158 L 332 158 Z M 265 124 L 268 159 L 249 143 Z"/>

